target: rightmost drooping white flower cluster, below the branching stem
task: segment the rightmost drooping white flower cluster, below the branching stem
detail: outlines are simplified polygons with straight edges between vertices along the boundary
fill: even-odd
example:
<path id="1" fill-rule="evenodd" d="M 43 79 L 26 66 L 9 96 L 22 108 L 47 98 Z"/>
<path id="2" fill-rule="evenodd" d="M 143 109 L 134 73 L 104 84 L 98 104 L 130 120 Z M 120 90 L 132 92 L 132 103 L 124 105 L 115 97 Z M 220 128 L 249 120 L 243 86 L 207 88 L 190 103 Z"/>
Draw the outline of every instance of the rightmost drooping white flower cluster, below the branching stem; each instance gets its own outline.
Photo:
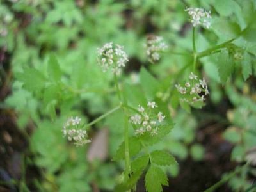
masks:
<path id="1" fill-rule="evenodd" d="M 193 72 L 190 73 L 189 81 L 187 81 L 184 86 L 176 84 L 175 87 L 179 93 L 183 95 L 181 100 L 191 104 L 195 102 L 204 102 L 205 96 L 209 94 L 205 79 L 198 79 Z"/>

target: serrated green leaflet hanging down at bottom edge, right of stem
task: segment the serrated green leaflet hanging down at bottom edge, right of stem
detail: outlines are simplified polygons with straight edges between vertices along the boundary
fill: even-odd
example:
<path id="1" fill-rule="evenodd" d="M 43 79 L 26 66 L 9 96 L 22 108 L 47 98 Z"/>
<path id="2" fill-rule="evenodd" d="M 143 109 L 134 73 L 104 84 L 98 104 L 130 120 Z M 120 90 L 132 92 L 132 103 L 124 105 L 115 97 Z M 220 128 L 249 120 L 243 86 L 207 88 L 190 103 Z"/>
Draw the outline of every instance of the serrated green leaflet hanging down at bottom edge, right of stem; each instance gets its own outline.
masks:
<path id="1" fill-rule="evenodd" d="M 150 166 L 145 177 L 145 186 L 148 192 L 161 192 L 163 186 L 168 186 L 166 173 L 156 166 Z"/>

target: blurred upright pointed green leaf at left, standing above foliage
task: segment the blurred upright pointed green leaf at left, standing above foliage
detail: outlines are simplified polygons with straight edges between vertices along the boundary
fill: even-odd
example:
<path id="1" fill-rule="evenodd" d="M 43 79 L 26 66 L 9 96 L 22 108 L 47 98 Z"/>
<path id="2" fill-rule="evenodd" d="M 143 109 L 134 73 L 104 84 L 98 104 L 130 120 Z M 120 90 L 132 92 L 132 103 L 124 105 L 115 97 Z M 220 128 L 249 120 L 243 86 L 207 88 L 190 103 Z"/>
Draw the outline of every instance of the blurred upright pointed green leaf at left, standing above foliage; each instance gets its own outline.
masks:
<path id="1" fill-rule="evenodd" d="M 60 65 L 58 63 L 58 60 L 54 54 L 50 55 L 49 61 L 48 61 L 48 75 L 51 79 L 54 81 L 60 81 L 61 79 L 61 70 L 60 70 Z"/>

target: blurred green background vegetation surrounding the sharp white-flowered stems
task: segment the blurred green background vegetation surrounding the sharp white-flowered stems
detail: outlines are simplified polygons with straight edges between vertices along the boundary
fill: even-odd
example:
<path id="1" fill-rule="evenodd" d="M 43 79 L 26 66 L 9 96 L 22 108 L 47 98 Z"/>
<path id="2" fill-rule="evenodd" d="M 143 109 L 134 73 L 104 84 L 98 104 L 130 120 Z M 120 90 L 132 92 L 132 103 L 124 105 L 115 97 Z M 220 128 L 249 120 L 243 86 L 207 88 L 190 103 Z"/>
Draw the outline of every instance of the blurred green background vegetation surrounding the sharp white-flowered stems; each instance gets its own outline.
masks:
<path id="1" fill-rule="evenodd" d="M 196 29 L 198 52 L 232 40 L 198 60 L 210 91 L 202 109 L 180 108 L 174 88 L 193 67 L 191 56 L 173 54 L 192 52 L 190 6 L 212 12 L 211 28 Z M 70 145 L 61 129 L 68 116 L 91 122 L 116 106 L 113 76 L 97 65 L 97 47 L 115 42 L 129 55 L 121 79 L 130 102 L 140 103 L 143 90 L 175 123 L 153 147 L 179 163 L 165 168 L 164 191 L 204 191 L 219 180 L 216 191 L 255 190 L 255 8 L 253 0 L 0 1 L 0 189 L 113 191 L 124 168 L 112 161 L 123 114 L 93 126 L 85 147 Z M 143 49 L 150 34 L 170 47 L 156 64 Z"/>

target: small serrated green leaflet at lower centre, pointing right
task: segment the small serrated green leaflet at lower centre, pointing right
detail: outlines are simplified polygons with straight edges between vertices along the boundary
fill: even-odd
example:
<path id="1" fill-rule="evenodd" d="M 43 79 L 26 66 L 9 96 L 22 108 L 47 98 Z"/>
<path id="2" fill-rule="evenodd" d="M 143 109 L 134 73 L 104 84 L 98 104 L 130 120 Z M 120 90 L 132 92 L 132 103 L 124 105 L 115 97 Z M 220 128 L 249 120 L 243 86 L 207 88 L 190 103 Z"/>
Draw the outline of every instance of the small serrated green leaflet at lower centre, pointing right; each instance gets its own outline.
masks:
<path id="1" fill-rule="evenodd" d="M 168 166 L 172 164 L 178 164 L 171 154 L 163 150 L 155 150 L 154 152 L 150 153 L 150 156 L 152 163 L 158 165 Z"/>

